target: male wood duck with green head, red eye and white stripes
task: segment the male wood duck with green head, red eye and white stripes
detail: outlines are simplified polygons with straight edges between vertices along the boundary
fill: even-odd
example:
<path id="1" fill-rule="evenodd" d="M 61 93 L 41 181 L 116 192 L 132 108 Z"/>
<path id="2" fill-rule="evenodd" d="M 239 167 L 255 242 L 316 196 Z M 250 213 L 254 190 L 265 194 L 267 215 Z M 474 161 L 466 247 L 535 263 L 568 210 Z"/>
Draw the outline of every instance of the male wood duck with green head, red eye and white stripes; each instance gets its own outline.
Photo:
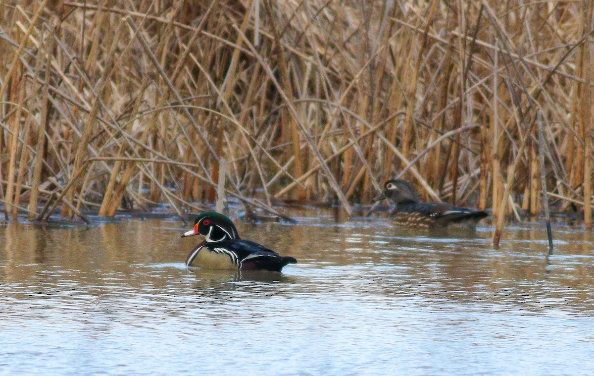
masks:
<path id="1" fill-rule="evenodd" d="M 198 234 L 204 236 L 204 241 L 188 253 L 188 267 L 280 271 L 285 265 L 297 262 L 263 245 L 240 239 L 233 222 L 217 212 L 198 215 L 194 228 L 182 237 Z"/>

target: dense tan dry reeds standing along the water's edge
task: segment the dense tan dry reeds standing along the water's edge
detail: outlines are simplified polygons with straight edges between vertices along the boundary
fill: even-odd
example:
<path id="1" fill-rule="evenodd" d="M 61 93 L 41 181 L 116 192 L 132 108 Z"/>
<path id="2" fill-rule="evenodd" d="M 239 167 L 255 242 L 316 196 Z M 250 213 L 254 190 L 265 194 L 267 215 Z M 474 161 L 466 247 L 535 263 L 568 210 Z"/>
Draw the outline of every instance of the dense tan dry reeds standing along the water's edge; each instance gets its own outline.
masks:
<path id="1" fill-rule="evenodd" d="M 492 206 L 499 232 L 510 202 L 541 207 L 541 111 L 551 203 L 590 227 L 591 18 L 587 1 L 4 1 L 6 215 L 200 210 L 225 158 L 228 194 L 267 211 L 350 213 L 407 170 L 424 198 Z"/>

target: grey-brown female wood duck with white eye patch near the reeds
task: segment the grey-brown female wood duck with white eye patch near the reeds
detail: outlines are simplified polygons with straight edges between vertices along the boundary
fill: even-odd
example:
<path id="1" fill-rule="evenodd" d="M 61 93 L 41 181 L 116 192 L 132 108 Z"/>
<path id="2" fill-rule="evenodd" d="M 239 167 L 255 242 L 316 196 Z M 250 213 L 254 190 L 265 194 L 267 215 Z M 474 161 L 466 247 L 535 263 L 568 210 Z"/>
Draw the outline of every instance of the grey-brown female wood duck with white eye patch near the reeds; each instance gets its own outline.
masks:
<path id="1" fill-rule="evenodd" d="M 488 215 L 481 210 L 460 208 L 445 202 L 422 202 L 410 183 L 402 179 L 386 181 L 381 195 L 373 200 L 383 199 L 390 199 L 396 204 L 390 214 L 394 223 L 407 227 L 434 228 L 455 224 L 475 228 L 478 221 Z"/>

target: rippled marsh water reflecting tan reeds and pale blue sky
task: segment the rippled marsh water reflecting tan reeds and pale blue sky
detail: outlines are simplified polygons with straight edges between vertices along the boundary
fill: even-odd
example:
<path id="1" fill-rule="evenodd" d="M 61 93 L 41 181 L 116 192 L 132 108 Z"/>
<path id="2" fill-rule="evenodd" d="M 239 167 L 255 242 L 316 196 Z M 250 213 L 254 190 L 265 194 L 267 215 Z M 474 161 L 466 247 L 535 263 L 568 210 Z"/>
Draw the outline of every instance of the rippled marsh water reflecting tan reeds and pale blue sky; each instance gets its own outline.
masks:
<path id="1" fill-rule="evenodd" d="M 235 220 L 299 260 L 188 270 L 175 218 L 0 226 L 0 374 L 523 374 L 594 370 L 594 237 Z"/>

